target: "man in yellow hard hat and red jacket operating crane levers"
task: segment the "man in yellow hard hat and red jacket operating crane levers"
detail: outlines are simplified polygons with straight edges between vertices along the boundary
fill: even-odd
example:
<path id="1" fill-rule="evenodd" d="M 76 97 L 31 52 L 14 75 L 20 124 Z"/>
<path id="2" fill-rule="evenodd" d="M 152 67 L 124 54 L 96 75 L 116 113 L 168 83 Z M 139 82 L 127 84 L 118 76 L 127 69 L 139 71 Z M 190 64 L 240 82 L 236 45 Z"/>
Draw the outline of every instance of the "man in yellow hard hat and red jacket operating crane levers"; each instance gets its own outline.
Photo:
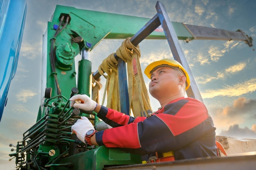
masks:
<path id="1" fill-rule="evenodd" d="M 175 160 L 216 156 L 213 121 L 202 102 L 185 98 L 189 75 L 182 65 L 171 59 L 149 64 L 144 73 L 151 79 L 149 92 L 161 108 L 150 117 L 130 117 L 94 102 L 87 95 L 70 98 L 71 106 L 94 110 L 113 128 L 97 132 L 86 117 L 72 126 L 81 141 L 105 145 L 141 155 L 173 151 Z M 82 99 L 84 104 L 76 104 Z"/>

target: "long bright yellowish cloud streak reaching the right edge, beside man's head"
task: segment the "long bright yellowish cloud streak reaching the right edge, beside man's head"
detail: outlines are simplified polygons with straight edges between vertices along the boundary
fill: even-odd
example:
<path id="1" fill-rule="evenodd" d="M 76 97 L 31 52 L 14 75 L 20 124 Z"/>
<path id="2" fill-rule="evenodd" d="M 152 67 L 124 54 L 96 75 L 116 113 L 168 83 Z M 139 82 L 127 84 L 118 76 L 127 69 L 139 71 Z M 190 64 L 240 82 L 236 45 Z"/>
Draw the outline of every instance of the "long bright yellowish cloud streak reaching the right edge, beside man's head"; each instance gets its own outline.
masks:
<path id="1" fill-rule="evenodd" d="M 217 96 L 240 96 L 256 91 L 256 78 L 249 79 L 246 82 L 238 83 L 233 86 L 226 86 L 219 89 L 211 89 L 201 93 L 203 98 L 213 98 Z"/>

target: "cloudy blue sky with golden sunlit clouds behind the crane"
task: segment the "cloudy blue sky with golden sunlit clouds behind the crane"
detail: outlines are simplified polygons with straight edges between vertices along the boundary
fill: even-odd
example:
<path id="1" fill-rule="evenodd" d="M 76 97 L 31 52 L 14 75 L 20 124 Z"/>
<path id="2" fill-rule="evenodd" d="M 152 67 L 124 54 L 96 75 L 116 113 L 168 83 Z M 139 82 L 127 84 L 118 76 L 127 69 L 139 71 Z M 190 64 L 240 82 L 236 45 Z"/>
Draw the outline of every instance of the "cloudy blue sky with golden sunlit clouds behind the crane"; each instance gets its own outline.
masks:
<path id="1" fill-rule="evenodd" d="M 14 170 L 9 144 L 36 123 L 40 106 L 42 38 L 56 5 L 92 11 L 152 18 L 156 0 L 27 0 L 27 17 L 17 72 L 0 122 L 0 169 Z M 161 0 L 171 19 L 185 24 L 228 31 L 241 29 L 256 40 L 256 2 L 252 0 Z M 139 30 L 138 30 L 139 31 Z M 92 71 L 99 61 L 116 51 L 123 40 L 103 40 L 90 52 Z M 216 135 L 256 139 L 256 51 L 244 42 L 180 40 L 204 104 L 213 117 Z M 254 44 L 255 45 L 255 44 Z M 141 68 L 155 60 L 171 58 L 166 40 L 144 40 Z M 148 86 L 149 79 L 144 77 Z M 102 83 L 104 80 L 102 81 Z M 103 94 L 103 89 L 100 94 Z M 153 110 L 159 103 L 150 97 Z"/>

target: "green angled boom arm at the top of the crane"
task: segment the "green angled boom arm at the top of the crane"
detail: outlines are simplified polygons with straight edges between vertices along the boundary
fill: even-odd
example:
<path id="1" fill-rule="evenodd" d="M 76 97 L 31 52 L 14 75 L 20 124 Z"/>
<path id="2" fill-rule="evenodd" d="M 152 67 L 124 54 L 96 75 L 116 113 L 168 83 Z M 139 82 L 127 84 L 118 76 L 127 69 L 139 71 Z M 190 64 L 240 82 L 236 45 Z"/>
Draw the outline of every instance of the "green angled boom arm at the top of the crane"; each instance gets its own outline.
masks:
<path id="1" fill-rule="evenodd" d="M 66 32 L 68 34 L 76 33 L 77 35 L 80 35 L 85 41 L 86 49 L 93 49 L 103 38 L 124 39 L 132 37 L 150 20 L 150 18 L 90 11 L 57 5 L 52 18 L 52 23 L 58 24 L 61 13 L 66 13 L 71 17 Z M 174 25 L 180 40 L 193 38 L 189 31 L 184 28 L 182 23 L 173 22 L 172 24 Z M 166 39 L 161 28 L 153 31 L 147 38 Z M 91 46 L 87 46 L 86 42 L 90 43 Z"/>

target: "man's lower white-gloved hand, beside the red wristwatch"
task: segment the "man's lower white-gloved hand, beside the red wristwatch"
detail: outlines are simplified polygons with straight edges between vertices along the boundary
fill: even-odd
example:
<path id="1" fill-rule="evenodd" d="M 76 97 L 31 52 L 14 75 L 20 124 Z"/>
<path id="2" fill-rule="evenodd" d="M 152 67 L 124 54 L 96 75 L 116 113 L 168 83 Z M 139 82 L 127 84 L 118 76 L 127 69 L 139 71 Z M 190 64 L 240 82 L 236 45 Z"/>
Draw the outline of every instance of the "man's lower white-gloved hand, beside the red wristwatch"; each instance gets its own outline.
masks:
<path id="1" fill-rule="evenodd" d="M 76 134 L 78 139 L 85 143 L 85 135 L 89 130 L 94 130 L 92 123 L 87 117 L 81 116 L 74 125 L 71 126 L 71 134 Z"/>

